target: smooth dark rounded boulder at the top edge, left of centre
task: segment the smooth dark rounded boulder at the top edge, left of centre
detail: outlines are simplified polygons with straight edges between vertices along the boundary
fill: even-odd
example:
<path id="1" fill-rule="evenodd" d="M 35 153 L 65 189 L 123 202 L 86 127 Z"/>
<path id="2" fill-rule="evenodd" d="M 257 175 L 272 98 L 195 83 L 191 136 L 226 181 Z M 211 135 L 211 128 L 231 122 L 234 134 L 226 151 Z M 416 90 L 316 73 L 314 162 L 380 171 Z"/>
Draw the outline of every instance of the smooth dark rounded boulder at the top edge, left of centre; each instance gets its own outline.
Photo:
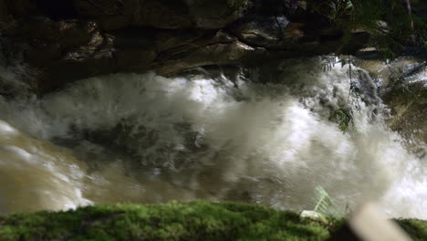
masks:
<path id="1" fill-rule="evenodd" d="M 219 29 L 242 16 L 248 0 L 75 0 L 80 16 L 103 29 L 149 26 L 163 29 Z"/>

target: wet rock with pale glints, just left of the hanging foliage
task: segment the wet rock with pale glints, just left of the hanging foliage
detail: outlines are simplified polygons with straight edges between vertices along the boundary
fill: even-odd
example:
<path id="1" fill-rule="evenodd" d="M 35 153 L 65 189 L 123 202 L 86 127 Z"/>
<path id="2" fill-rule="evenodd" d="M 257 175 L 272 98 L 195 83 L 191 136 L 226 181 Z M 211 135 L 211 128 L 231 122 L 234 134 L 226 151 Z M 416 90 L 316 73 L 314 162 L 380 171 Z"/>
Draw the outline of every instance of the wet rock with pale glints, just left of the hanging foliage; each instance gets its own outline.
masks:
<path id="1" fill-rule="evenodd" d="M 367 44 L 370 37 L 366 33 L 354 33 L 344 42 L 343 31 L 330 26 L 324 17 L 300 20 L 292 22 L 286 16 L 247 16 L 230 26 L 230 31 L 240 41 L 254 47 L 311 55 L 352 54 Z"/>

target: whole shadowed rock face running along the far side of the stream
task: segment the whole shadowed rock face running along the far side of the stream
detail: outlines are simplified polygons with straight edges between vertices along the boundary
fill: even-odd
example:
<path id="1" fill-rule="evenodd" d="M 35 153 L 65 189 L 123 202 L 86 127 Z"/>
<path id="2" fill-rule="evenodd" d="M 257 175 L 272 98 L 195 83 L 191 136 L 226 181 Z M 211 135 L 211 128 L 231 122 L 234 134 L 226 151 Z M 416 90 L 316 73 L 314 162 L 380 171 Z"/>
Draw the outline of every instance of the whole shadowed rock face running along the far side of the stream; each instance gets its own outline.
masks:
<path id="1" fill-rule="evenodd" d="M 205 65 L 351 52 L 369 37 L 355 35 L 343 46 L 340 29 L 296 0 L 60 2 L 0 0 L 6 60 L 22 53 L 38 72 L 39 93 L 113 72 L 171 76 Z"/>

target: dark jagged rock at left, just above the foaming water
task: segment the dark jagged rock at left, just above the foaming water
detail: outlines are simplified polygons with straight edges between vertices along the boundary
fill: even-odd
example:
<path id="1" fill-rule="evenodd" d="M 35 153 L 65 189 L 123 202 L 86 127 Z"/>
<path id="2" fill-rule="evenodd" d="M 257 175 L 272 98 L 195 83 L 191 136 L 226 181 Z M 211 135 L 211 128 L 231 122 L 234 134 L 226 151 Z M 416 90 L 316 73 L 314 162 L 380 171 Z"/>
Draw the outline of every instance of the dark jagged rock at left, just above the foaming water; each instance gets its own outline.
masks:
<path id="1" fill-rule="evenodd" d="M 44 48 L 31 48 L 26 54 L 26 61 L 39 69 L 42 81 L 38 81 L 38 92 L 48 92 L 70 81 L 117 71 L 113 44 L 111 37 L 96 32 L 88 43 L 78 47 L 51 43 Z"/>

